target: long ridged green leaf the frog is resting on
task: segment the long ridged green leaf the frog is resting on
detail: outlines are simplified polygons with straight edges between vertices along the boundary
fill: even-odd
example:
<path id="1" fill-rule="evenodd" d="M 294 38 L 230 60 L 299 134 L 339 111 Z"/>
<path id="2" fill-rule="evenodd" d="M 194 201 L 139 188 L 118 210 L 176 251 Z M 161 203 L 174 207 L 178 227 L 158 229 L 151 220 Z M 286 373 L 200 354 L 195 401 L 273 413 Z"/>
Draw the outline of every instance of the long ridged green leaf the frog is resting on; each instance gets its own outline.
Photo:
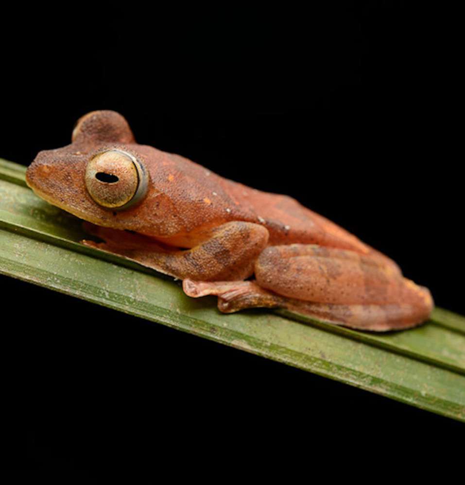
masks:
<path id="1" fill-rule="evenodd" d="M 80 244 L 81 221 L 38 199 L 0 160 L 0 272 L 465 421 L 465 318 L 443 309 L 372 334 L 293 312 L 224 315 L 172 278 Z"/>

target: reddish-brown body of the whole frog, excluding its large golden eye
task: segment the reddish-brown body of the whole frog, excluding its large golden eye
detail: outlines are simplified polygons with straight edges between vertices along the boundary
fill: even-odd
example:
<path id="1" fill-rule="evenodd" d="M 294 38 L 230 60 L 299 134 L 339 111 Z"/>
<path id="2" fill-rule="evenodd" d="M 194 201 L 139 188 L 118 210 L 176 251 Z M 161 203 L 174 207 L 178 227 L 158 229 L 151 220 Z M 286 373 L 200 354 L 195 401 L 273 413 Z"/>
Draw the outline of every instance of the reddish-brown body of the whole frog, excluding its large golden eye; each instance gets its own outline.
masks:
<path id="1" fill-rule="evenodd" d="M 125 210 L 100 206 L 86 188 L 89 160 L 113 149 L 137 159 L 149 179 L 143 199 Z M 224 312 L 279 306 L 354 328 L 391 330 L 421 323 L 433 306 L 428 289 L 403 278 L 394 261 L 353 234 L 288 196 L 138 145 L 113 111 L 80 118 L 72 143 L 41 151 L 26 180 L 105 241 L 86 244 L 183 279 L 190 296 L 218 295 Z M 255 282 L 241 281 L 254 273 Z"/>

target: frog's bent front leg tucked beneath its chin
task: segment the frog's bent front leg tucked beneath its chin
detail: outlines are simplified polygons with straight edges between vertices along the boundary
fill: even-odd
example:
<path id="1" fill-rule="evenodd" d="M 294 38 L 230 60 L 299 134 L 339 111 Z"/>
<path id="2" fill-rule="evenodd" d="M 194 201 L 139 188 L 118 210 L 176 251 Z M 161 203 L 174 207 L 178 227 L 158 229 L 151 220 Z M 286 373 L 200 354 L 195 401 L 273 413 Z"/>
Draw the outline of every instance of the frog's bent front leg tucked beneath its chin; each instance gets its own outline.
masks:
<path id="1" fill-rule="evenodd" d="M 86 231 L 105 242 L 89 246 L 119 254 L 148 268 L 184 280 L 243 280 L 254 272 L 258 255 L 268 243 L 268 230 L 259 224 L 232 221 L 212 230 L 209 238 L 189 250 L 173 250 L 142 234 L 85 223 Z"/>

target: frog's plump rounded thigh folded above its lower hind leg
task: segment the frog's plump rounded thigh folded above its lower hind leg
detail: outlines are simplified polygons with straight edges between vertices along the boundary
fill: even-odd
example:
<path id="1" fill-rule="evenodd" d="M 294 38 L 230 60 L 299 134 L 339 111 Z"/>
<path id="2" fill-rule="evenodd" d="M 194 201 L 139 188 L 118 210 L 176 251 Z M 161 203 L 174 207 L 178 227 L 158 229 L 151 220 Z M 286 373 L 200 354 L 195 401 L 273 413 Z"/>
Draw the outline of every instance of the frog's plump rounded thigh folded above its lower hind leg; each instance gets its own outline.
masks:
<path id="1" fill-rule="evenodd" d="M 387 304 L 410 290 L 398 268 L 377 257 L 308 244 L 266 248 L 255 276 L 263 288 L 318 303 Z"/>

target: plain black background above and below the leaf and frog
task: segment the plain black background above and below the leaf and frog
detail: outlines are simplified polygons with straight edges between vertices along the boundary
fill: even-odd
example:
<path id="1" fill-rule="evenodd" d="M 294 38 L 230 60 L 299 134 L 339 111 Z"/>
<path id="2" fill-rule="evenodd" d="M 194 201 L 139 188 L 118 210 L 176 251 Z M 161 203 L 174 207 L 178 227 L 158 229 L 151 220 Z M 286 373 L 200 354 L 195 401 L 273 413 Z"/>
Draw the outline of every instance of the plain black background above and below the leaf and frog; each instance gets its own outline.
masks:
<path id="1" fill-rule="evenodd" d="M 119 111 L 139 143 L 292 195 L 465 313 L 452 17 L 346 2 L 308 12 L 113 7 L 14 22 L 1 33 L 0 156 L 28 165 L 68 144 L 86 112 Z M 348 435 L 377 448 L 386 436 L 447 440 L 461 426 L 0 281 L 22 310 L 4 340 L 16 467 L 247 461 L 263 450 L 273 461 L 290 449 L 302 457 L 315 440 L 333 452 L 342 440 L 347 452 Z"/>

